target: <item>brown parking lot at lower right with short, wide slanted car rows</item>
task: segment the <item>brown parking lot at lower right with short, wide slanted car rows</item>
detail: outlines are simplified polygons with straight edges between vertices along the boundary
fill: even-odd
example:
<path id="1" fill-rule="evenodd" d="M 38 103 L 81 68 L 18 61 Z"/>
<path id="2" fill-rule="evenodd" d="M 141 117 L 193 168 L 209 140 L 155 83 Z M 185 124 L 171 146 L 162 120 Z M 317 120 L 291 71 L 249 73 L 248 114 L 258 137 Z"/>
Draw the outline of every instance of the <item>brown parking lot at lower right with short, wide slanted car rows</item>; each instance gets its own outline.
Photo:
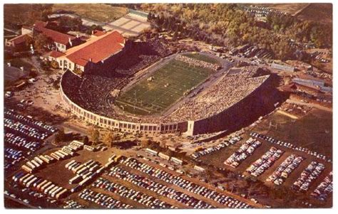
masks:
<path id="1" fill-rule="evenodd" d="M 332 171 L 332 163 L 327 157 L 309 151 L 309 149 L 282 143 L 282 139 L 274 140 L 270 137 L 258 137 L 250 133 L 243 134 L 241 137 L 240 142 L 205 156 L 200 156 L 198 160 L 218 168 L 239 171 L 243 176 L 257 178 L 271 188 L 283 186 L 295 193 L 298 192 L 299 188 L 292 188 L 292 186 L 297 179 L 300 179 L 302 182 L 299 183 L 299 186 L 305 183 L 304 190 L 300 191 L 301 194 L 311 200 L 315 200 L 314 198 L 317 197 L 322 198 L 323 203 L 330 203 L 332 193 L 330 191 L 329 173 Z M 280 143 L 277 143 L 279 140 Z M 260 141 L 261 144 L 256 149 L 253 147 L 250 149 L 250 144 L 254 141 Z M 247 144 L 248 142 L 250 144 Z M 273 150 L 279 151 L 280 154 L 273 154 L 272 148 L 277 149 Z M 237 164 L 233 164 L 234 161 L 237 161 Z M 312 167 L 310 166 L 302 173 L 312 161 L 320 164 L 320 166 L 323 165 L 324 168 L 320 172 L 316 171 L 316 173 L 311 174 L 309 168 Z M 308 177 L 310 178 L 308 179 Z M 321 183 L 323 183 L 322 186 L 319 186 Z M 314 193 L 318 186 L 319 190 Z"/>

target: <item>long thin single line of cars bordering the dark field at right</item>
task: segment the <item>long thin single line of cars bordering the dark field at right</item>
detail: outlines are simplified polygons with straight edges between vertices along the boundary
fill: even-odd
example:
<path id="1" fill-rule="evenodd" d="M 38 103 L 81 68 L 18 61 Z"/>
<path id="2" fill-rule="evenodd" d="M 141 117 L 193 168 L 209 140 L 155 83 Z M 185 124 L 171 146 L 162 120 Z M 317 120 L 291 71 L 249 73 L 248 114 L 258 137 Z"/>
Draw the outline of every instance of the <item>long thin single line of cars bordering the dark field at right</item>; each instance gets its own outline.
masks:
<path id="1" fill-rule="evenodd" d="M 309 155 L 315 156 L 317 159 L 322 159 L 322 160 L 327 161 L 327 162 L 331 162 L 332 161 L 327 156 L 324 156 L 324 154 L 319 154 L 319 153 L 317 153 L 317 151 L 311 151 L 311 150 L 309 150 L 307 148 L 304 148 L 302 146 L 295 146 L 294 144 L 290 144 L 290 143 L 287 143 L 287 142 L 284 142 L 284 141 L 279 141 L 277 139 L 273 139 L 272 137 L 268 137 L 268 136 L 266 136 L 264 134 L 258 134 L 256 132 L 251 132 L 250 135 L 252 137 L 256 137 L 256 138 L 260 138 L 260 139 L 264 139 L 266 141 L 269 141 L 272 144 L 277 144 L 277 145 L 280 145 L 280 146 L 285 146 L 285 147 L 293 149 L 295 151 L 302 151 L 302 152 L 307 153 Z"/>

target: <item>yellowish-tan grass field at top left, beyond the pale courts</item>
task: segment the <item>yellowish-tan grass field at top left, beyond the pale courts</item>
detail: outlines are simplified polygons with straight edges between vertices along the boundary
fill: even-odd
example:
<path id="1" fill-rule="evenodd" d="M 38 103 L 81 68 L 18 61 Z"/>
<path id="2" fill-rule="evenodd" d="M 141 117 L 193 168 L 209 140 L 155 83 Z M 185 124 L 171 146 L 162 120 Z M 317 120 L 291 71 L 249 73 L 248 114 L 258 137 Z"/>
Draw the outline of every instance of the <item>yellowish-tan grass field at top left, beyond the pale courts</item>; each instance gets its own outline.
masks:
<path id="1" fill-rule="evenodd" d="M 108 4 L 54 4 L 53 11 L 57 10 L 73 11 L 83 18 L 101 22 L 114 21 L 128 12 L 126 7 Z"/>

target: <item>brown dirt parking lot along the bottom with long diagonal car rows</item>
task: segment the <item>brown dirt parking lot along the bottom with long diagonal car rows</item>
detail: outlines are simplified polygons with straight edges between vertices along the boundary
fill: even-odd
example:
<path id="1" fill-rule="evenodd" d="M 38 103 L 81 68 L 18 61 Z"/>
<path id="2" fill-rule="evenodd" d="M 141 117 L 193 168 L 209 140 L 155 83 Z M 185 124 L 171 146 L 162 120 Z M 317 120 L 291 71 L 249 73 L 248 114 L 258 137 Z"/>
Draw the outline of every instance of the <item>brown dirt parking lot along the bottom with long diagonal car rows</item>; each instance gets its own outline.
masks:
<path id="1" fill-rule="evenodd" d="M 68 144 L 70 145 L 70 144 Z M 57 154 L 60 148 L 46 151 L 43 156 Z M 103 166 L 108 163 L 111 156 L 118 156 L 113 166 L 94 176 L 90 182 L 76 188 L 78 182 L 71 183 L 76 174 L 86 176 L 86 171 L 92 166 Z M 128 158 L 133 156 L 134 158 Z M 74 168 L 92 160 L 83 173 L 74 173 Z M 196 178 L 189 178 L 178 171 L 168 168 L 168 165 L 156 164 L 158 161 L 143 156 L 136 156 L 135 151 L 107 149 L 105 151 L 90 151 L 81 149 L 73 156 L 52 161 L 36 169 L 31 183 L 14 182 L 7 178 L 11 188 L 9 195 L 14 193 L 16 198 L 25 200 L 28 205 L 38 205 L 39 198 L 47 198 L 44 203 L 48 207 L 67 208 L 251 208 L 252 202 L 231 196 L 227 192 L 215 189 L 208 183 Z M 66 164 L 70 167 L 65 168 Z M 73 169 L 69 164 L 73 164 Z M 93 170 L 96 170 L 93 169 Z M 22 171 L 22 170 L 19 170 Z M 16 171 L 16 175 L 18 174 Z M 60 172 L 62 174 L 60 175 Z M 39 183 L 46 180 L 53 185 L 45 191 L 36 190 Z M 24 185 L 29 185 L 26 187 Z M 36 187 L 34 187 L 36 186 Z M 69 196 L 56 200 L 53 190 L 65 188 Z M 72 193 L 71 191 L 75 191 Z M 46 192 L 46 193 L 44 193 Z M 54 196 L 54 197 L 52 197 Z M 258 205 L 256 205 L 258 206 Z"/>

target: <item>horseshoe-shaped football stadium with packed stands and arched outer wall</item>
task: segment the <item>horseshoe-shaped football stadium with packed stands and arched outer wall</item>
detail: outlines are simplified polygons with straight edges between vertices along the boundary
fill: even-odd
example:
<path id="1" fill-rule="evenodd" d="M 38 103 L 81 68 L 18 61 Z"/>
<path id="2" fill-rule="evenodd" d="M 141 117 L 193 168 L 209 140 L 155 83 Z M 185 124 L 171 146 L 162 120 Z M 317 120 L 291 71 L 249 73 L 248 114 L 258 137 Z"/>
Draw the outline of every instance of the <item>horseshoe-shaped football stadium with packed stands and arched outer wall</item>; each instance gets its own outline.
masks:
<path id="1" fill-rule="evenodd" d="M 67 69 L 61 97 L 79 119 L 120 132 L 238 129 L 271 112 L 277 96 L 262 68 L 232 66 L 210 53 L 172 53 L 163 41 L 126 43 L 105 66 Z"/>

